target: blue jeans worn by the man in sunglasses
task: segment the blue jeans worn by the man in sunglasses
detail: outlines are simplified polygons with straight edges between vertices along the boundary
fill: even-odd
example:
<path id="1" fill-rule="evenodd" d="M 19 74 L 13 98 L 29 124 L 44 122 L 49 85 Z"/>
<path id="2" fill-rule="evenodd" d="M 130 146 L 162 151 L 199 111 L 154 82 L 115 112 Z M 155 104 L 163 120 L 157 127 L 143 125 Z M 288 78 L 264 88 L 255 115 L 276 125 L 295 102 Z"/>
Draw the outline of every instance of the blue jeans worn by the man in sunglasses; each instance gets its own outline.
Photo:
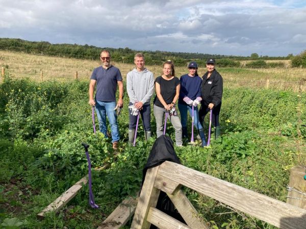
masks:
<path id="1" fill-rule="evenodd" d="M 95 102 L 100 132 L 103 133 L 104 136 L 107 138 L 107 116 L 111 125 L 112 142 L 118 141 L 120 139 L 119 128 L 117 123 L 117 113 L 116 110 L 114 110 L 114 108 L 116 107 L 116 102 L 103 102 L 98 100 L 96 100 Z"/>

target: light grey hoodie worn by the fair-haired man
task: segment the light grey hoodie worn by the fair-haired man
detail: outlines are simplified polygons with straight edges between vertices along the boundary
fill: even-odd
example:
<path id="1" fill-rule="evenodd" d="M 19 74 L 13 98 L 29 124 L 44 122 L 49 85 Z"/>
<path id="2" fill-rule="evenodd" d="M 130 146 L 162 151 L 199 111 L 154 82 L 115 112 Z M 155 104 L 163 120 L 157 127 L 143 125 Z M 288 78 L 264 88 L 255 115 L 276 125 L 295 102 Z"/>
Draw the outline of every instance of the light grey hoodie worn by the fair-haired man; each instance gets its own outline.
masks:
<path id="1" fill-rule="evenodd" d="M 146 68 L 141 72 L 134 68 L 126 75 L 126 91 L 131 103 L 140 101 L 143 105 L 150 104 L 154 92 L 153 73 Z"/>

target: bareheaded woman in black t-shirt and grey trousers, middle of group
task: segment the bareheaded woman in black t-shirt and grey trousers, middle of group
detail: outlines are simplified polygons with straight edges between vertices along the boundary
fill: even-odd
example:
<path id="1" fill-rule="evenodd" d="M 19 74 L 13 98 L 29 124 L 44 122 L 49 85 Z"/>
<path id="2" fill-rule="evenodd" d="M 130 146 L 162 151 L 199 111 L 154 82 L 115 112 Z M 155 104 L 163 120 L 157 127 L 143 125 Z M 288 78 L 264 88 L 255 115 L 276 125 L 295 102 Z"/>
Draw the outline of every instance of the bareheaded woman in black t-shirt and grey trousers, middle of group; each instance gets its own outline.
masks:
<path id="1" fill-rule="evenodd" d="M 156 96 L 154 98 L 154 116 L 156 120 L 157 137 L 163 134 L 163 120 L 165 112 L 169 112 L 168 119 L 175 129 L 176 146 L 182 146 L 182 124 L 180 118 L 174 112 L 175 103 L 179 99 L 181 84 L 175 77 L 174 65 L 166 61 L 163 65 L 163 75 L 155 80 Z"/>

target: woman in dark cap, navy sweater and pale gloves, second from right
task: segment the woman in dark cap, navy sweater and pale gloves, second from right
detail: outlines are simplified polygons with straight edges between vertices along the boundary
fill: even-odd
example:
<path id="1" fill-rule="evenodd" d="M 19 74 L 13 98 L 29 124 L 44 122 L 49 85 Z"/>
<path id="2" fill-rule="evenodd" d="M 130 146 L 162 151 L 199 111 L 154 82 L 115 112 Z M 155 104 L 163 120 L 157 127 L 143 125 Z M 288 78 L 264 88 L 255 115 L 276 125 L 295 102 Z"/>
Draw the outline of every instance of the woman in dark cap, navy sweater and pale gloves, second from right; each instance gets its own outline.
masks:
<path id="1" fill-rule="evenodd" d="M 201 98 L 201 83 L 202 80 L 197 74 L 198 65 L 196 62 L 192 61 L 188 65 L 189 73 L 182 75 L 180 78 L 181 81 L 181 90 L 179 97 L 179 110 L 181 113 L 181 123 L 182 123 L 182 132 L 183 138 L 188 137 L 187 131 L 187 110 L 189 114 L 192 114 L 192 106 L 194 108 L 194 126 L 199 131 L 199 135 L 202 140 L 202 147 L 205 147 L 206 140 L 205 134 L 202 125 L 199 121 L 198 105 L 200 104 Z"/>

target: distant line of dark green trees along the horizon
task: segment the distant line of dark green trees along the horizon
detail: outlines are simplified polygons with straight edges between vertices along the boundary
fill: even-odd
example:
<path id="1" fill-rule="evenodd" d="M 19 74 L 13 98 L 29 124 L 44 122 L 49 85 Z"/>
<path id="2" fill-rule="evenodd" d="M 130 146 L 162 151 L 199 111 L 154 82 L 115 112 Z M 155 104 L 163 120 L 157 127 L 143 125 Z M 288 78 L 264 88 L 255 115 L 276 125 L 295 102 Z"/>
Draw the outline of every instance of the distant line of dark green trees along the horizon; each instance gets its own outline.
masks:
<path id="1" fill-rule="evenodd" d="M 136 52 L 142 52 L 145 56 L 147 65 L 161 65 L 166 60 L 172 60 L 175 66 L 186 66 L 191 60 L 198 62 L 200 66 L 205 66 L 205 61 L 208 58 L 217 59 L 219 67 L 239 67 L 240 61 L 253 60 L 289 60 L 296 56 L 289 54 L 288 56 L 260 56 L 257 53 L 252 53 L 250 56 L 234 56 L 234 55 L 219 55 L 208 53 L 189 53 L 189 52 L 168 52 L 168 51 L 140 51 L 130 48 L 109 48 L 96 47 L 93 45 L 78 45 L 78 44 L 51 44 L 46 41 L 25 41 L 14 38 L 0 38 L 0 50 L 19 51 L 31 54 L 43 54 L 49 56 L 63 56 L 75 59 L 98 60 L 102 49 L 108 49 L 111 52 L 112 60 L 115 62 L 134 63 L 134 55 Z M 306 64 L 306 58 L 301 58 Z M 298 63 L 302 62 L 298 59 Z M 261 62 L 263 64 L 263 62 Z M 270 66 L 273 67 L 273 66 Z M 276 66 L 275 66 L 276 67 Z"/>

